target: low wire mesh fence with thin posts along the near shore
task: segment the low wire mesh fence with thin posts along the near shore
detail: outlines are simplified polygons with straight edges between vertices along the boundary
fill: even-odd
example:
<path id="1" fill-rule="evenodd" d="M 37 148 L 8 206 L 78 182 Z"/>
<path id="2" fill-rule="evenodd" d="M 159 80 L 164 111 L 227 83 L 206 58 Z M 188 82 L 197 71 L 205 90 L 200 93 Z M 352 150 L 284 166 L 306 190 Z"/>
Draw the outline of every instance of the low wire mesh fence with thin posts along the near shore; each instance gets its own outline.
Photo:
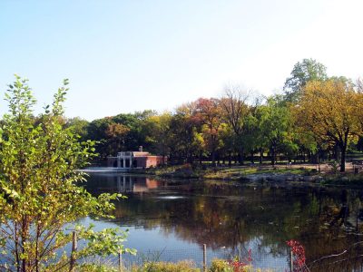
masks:
<path id="1" fill-rule="evenodd" d="M 70 271 L 74 271 L 75 259 L 74 252 L 77 248 L 77 238 L 74 231 L 73 247 L 71 254 Z M 299 243 L 298 243 L 299 244 Z M 303 249 L 303 248 L 302 248 Z M 295 253 L 294 253 L 295 252 Z M 213 259 L 223 259 L 227 261 L 238 257 L 240 262 L 249 263 L 255 269 L 262 271 L 284 271 L 284 272 L 363 272 L 363 241 L 358 241 L 350 245 L 347 249 L 329 256 L 319 257 L 312 261 L 305 262 L 305 253 L 302 257 L 299 256 L 299 251 L 294 251 L 293 248 L 280 254 L 280 256 L 270 257 L 265 254 L 264 257 L 256 257 L 253 259 L 250 256 L 249 250 L 231 250 L 231 248 L 207 248 L 204 244 L 201 248 L 161 248 L 148 251 L 139 251 L 136 256 L 122 255 L 109 257 L 88 258 L 86 263 L 106 265 L 113 267 L 115 271 L 131 271 L 132 267 L 142 267 L 145 263 L 168 262 L 177 263 L 180 261 L 188 261 L 193 267 L 201 268 L 201 271 L 207 271 L 211 266 Z M 260 271 L 260 270 L 259 270 Z"/>

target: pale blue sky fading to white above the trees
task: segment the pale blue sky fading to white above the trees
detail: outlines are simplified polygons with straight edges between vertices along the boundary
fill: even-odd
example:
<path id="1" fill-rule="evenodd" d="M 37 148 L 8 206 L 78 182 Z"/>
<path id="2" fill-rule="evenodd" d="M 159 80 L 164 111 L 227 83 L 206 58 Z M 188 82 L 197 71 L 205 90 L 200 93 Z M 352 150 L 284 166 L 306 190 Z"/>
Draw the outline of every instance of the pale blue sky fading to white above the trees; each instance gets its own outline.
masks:
<path id="1" fill-rule="evenodd" d="M 295 63 L 363 77 L 361 0 L 0 0 L 0 97 L 14 74 L 67 117 L 172 111 L 238 84 L 280 92 Z M 0 113 L 7 111 L 0 99 Z"/>

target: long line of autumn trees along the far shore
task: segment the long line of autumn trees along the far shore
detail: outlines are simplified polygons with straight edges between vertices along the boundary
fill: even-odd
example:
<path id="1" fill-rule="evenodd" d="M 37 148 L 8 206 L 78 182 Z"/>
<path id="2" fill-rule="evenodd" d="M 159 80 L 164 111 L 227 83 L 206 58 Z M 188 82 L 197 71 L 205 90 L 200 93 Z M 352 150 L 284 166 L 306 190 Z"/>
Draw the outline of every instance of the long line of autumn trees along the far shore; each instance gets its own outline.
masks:
<path id="1" fill-rule="evenodd" d="M 66 125 L 82 141 L 98 141 L 101 158 L 142 146 L 170 163 L 340 159 L 344 171 L 347 151 L 362 146 L 363 83 L 326 71 L 322 63 L 304 59 L 280 94 L 263 97 L 231 85 L 220 98 L 183 103 L 173 112 L 74 118 Z"/>

